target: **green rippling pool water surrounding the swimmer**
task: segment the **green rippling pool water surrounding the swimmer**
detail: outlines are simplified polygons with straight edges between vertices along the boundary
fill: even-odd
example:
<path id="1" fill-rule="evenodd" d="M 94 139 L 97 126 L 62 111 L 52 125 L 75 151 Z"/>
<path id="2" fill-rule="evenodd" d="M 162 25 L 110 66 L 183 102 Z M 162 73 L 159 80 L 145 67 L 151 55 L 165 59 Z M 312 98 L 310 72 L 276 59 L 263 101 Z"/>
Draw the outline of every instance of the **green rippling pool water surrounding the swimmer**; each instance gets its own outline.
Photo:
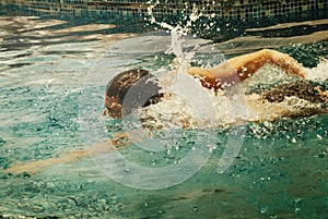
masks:
<path id="1" fill-rule="evenodd" d="M 0 215 L 327 218 L 328 115 L 324 110 L 326 106 L 304 101 L 296 101 L 291 111 L 295 112 L 296 105 L 303 105 L 312 106 L 309 111 L 315 113 L 296 117 L 295 112 L 292 113 L 295 118 L 266 122 L 251 122 L 256 119 L 250 118 L 245 124 L 238 156 L 224 173 L 218 174 L 219 159 L 234 132 L 226 126 L 232 121 L 230 113 L 225 113 L 225 97 L 215 98 L 221 125 L 206 131 L 216 136 L 210 143 L 211 158 L 189 180 L 164 190 L 144 191 L 121 185 L 103 174 L 89 158 L 50 165 L 32 175 L 7 173 L 5 169 L 22 162 L 85 149 L 79 110 L 87 106 L 89 100 L 81 100 L 81 94 L 87 93 L 97 102 L 96 112 L 102 117 L 106 83 L 115 74 L 131 68 L 163 70 L 172 64 L 174 56 L 165 53 L 171 45 L 165 32 L 117 34 L 110 24 L 74 26 L 65 21 L 25 16 L 1 16 L 0 25 Z M 292 38 L 247 36 L 221 44 L 190 37 L 187 47 L 190 50 L 199 45 L 191 61 L 204 66 L 220 63 L 222 52 L 229 58 L 262 47 L 276 48 L 304 63 L 308 68 L 306 81 L 327 90 L 328 42 L 324 36 L 326 32 Z M 104 74 L 93 74 L 94 71 Z M 85 85 L 92 80 L 103 83 L 94 84 L 91 89 Z M 265 66 L 245 83 L 245 94 L 285 80 L 281 71 Z M 280 105 L 283 104 L 290 102 Z M 165 142 L 167 150 L 142 153 L 130 144 L 120 151 L 134 162 L 152 167 L 174 163 L 203 132 L 180 130 L 180 122 L 165 123 L 173 118 L 197 122 L 183 100 L 176 98 L 162 105 L 162 111 L 153 106 L 148 115 L 159 115 L 165 109 L 164 120 L 151 127 L 157 124 L 174 127 L 152 133 Z M 119 121 L 106 122 L 109 136 L 121 131 Z"/>

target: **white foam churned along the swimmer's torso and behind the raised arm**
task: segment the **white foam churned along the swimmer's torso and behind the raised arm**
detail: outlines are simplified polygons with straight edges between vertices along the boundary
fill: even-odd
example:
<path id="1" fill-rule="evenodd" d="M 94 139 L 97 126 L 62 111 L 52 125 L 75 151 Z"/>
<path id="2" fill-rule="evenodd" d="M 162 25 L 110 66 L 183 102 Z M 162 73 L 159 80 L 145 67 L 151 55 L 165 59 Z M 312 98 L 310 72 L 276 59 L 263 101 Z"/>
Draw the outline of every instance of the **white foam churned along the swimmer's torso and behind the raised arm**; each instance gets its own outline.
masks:
<path id="1" fill-rule="evenodd" d="M 308 72 L 312 74 L 311 76 L 307 74 L 306 78 L 316 81 L 327 80 L 328 74 L 325 68 L 327 68 L 326 60 L 321 61 L 317 68 L 308 69 Z M 274 83 L 278 80 L 286 77 L 284 72 L 271 65 L 266 65 L 259 70 L 256 75 L 257 76 L 249 82 L 245 83 L 247 88 L 259 83 Z M 196 86 L 201 86 L 201 84 L 198 83 Z M 245 121 L 274 121 L 277 119 L 295 115 L 305 117 L 307 114 L 327 111 L 325 102 L 311 102 L 297 97 L 285 97 L 281 102 L 269 102 L 261 99 L 260 95 L 251 94 L 247 97 L 245 96 L 245 101 L 238 100 L 238 102 L 235 102 L 237 97 L 233 95 L 227 95 L 222 90 L 215 94 L 207 88 L 202 87 L 202 89 L 210 97 L 215 111 L 215 121 L 208 122 L 209 126 L 214 127 L 224 127 Z M 199 118 L 197 118 L 192 105 L 179 96 L 169 96 L 156 105 L 142 109 L 141 118 L 145 121 L 147 126 L 156 129 L 200 127 Z"/>

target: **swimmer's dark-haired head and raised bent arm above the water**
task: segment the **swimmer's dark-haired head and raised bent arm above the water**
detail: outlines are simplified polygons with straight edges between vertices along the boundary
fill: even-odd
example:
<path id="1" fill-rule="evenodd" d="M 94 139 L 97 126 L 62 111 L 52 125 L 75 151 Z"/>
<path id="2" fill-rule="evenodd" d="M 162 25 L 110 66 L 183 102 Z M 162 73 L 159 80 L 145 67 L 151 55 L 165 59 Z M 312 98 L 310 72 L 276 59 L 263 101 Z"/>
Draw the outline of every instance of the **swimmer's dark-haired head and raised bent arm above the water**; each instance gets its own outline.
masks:
<path id="1" fill-rule="evenodd" d="M 238 56 L 211 69 L 191 66 L 187 73 L 199 80 L 203 87 L 218 90 L 224 85 L 245 81 L 266 63 L 281 68 L 289 75 L 305 76 L 303 66 L 295 59 L 289 54 L 270 49 Z M 136 84 L 142 88 L 142 94 L 136 94 L 134 97 L 138 96 L 139 99 L 129 100 L 133 102 L 128 102 L 128 105 L 125 105 L 125 109 L 122 109 L 127 92 Z M 137 107 L 147 107 L 151 104 L 156 104 L 164 96 L 161 89 L 155 76 L 147 70 L 125 71 L 115 76 L 107 85 L 104 115 L 120 119 L 122 112 L 124 114 L 129 114 Z M 142 101 L 150 95 L 150 99 Z M 138 106 L 138 102 L 145 104 Z"/>

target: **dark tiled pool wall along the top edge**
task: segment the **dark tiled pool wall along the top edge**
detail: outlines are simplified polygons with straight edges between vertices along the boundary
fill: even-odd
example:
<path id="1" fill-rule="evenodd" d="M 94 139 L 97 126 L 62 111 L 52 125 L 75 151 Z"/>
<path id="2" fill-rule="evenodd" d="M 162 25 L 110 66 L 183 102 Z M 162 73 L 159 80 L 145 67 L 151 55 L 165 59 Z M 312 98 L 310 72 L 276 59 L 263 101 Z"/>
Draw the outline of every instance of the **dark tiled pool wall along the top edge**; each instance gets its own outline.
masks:
<path id="1" fill-rule="evenodd" d="M 22 10 L 70 13 L 74 15 L 105 15 L 125 19 L 143 17 L 155 0 L 0 0 L 2 7 L 15 5 Z M 160 0 L 152 10 L 156 16 L 183 16 L 192 5 L 203 15 L 215 15 L 225 21 L 274 19 L 279 22 L 327 17 L 326 0 Z"/>

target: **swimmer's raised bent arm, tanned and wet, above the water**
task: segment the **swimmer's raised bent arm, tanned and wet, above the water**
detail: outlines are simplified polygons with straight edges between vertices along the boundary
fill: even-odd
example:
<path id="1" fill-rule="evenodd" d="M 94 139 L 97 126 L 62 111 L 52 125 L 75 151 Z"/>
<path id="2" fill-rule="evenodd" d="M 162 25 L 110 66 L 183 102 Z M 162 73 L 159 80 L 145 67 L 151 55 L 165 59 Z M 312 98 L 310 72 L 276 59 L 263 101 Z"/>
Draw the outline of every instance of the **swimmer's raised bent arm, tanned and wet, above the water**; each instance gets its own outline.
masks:
<path id="1" fill-rule="evenodd" d="M 305 76 L 302 65 L 295 59 L 289 54 L 270 49 L 238 56 L 211 69 L 190 68 L 188 73 L 199 77 L 206 87 L 220 88 L 224 83 L 248 78 L 266 63 L 274 64 L 291 75 Z"/>

